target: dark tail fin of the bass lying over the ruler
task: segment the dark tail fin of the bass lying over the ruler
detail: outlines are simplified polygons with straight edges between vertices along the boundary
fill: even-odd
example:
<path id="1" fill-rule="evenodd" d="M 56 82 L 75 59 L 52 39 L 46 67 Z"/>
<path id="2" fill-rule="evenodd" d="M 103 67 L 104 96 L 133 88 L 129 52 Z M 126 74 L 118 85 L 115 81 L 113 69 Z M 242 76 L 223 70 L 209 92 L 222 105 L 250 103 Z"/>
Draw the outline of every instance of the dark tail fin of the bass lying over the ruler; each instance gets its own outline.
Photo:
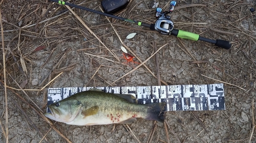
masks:
<path id="1" fill-rule="evenodd" d="M 155 120 L 163 122 L 165 119 L 166 102 L 146 104 L 148 108 L 148 115 L 146 120 Z"/>

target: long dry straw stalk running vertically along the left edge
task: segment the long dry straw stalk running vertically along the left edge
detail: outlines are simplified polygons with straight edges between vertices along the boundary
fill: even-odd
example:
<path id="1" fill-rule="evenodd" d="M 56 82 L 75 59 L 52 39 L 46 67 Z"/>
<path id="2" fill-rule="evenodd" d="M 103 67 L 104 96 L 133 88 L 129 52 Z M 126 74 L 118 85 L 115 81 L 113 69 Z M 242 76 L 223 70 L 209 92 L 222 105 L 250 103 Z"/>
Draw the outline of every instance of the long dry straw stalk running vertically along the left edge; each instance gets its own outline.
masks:
<path id="1" fill-rule="evenodd" d="M 2 4 L 2 2 L 1 2 L 1 4 Z M 6 88 L 5 43 L 4 43 L 5 39 L 4 39 L 4 28 L 3 28 L 1 11 L 2 10 L 0 8 L 0 24 L 1 24 L 2 47 L 3 47 L 3 65 L 4 65 L 4 82 L 5 82 L 5 122 L 6 122 L 5 128 L 6 128 L 6 143 L 8 143 L 9 135 L 8 135 L 8 103 L 7 103 L 7 88 Z"/>

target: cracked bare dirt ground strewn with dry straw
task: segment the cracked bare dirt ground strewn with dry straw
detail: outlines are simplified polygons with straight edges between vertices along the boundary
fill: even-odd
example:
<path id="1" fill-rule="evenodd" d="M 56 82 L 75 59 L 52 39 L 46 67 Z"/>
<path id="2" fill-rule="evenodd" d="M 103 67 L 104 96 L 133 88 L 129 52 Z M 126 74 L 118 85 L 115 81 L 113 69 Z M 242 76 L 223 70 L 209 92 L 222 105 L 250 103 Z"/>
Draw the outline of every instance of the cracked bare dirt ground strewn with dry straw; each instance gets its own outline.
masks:
<path id="1" fill-rule="evenodd" d="M 100 1 L 70 3 L 101 11 Z M 159 7 L 167 10 L 168 4 L 160 1 Z M 176 29 L 230 41 L 232 47 L 226 50 L 112 18 L 110 24 L 105 16 L 79 9 L 73 9 L 74 16 L 65 6 L 47 0 L 2 1 L 0 142 L 6 142 L 7 135 L 9 142 L 256 142 L 252 114 L 256 12 L 249 10 L 254 4 L 252 0 L 177 1 L 170 15 Z M 191 7 L 181 8 L 187 5 Z M 148 0 L 133 0 L 117 15 L 145 23 L 156 20 Z M 125 39 L 130 33 L 137 35 Z M 117 80 L 134 69 L 120 58 L 122 42 L 137 62 L 150 57 L 154 47 L 167 45 L 157 54 L 159 67 L 151 58 L 145 63 L 148 69 L 141 66 Z M 157 69 L 160 78 L 154 77 Z M 43 116 L 47 88 L 159 85 L 160 79 L 162 85 L 224 83 L 226 110 L 167 112 L 167 127 L 140 119 L 129 126 L 116 125 L 114 131 L 114 125 L 72 126 Z"/>

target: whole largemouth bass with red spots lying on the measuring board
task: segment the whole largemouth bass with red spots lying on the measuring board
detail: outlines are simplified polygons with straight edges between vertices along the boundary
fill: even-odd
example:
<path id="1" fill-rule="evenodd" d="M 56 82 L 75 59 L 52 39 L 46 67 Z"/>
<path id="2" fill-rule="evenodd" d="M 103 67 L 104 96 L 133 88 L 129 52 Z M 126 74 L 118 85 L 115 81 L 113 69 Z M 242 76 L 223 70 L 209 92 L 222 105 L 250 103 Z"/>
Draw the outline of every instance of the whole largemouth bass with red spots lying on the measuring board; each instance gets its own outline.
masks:
<path id="1" fill-rule="evenodd" d="M 136 118 L 163 122 L 165 102 L 137 104 L 132 95 L 84 91 L 50 104 L 45 116 L 70 125 L 126 124 Z"/>

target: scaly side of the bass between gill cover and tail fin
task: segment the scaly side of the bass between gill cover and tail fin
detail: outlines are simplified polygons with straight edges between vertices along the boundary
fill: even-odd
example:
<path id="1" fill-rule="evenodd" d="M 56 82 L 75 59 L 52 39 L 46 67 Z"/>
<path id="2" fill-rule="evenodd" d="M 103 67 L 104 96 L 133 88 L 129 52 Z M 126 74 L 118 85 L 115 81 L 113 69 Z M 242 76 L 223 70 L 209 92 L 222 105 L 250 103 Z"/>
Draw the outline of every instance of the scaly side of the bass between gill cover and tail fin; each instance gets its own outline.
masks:
<path id="1" fill-rule="evenodd" d="M 95 121 L 101 122 L 102 120 L 104 120 L 104 124 L 111 124 L 121 123 L 135 117 L 146 118 L 147 108 L 143 105 L 131 103 L 119 96 L 113 96 L 113 94 L 97 95 L 97 93 L 90 92 L 89 94 L 87 93 L 87 96 L 84 96 L 84 94 L 77 96 L 77 99 L 81 100 L 84 109 L 88 109 L 91 106 L 99 106 L 97 114 L 86 118 L 87 124 L 92 124 Z"/>

